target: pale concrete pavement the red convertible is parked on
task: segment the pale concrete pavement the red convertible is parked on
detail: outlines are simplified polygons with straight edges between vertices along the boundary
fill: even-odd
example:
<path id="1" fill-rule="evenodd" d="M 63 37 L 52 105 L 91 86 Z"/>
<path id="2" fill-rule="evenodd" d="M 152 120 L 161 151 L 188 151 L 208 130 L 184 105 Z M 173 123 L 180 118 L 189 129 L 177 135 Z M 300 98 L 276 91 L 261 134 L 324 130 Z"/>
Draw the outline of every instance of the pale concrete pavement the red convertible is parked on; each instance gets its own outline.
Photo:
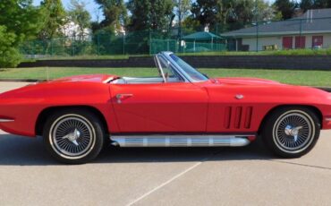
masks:
<path id="1" fill-rule="evenodd" d="M 24 85 L 0 82 L 0 92 Z M 1 205 L 330 205 L 331 131 L 301 159 L 245 148 L 105 150 L 66 166 L 0 131 Z"/>

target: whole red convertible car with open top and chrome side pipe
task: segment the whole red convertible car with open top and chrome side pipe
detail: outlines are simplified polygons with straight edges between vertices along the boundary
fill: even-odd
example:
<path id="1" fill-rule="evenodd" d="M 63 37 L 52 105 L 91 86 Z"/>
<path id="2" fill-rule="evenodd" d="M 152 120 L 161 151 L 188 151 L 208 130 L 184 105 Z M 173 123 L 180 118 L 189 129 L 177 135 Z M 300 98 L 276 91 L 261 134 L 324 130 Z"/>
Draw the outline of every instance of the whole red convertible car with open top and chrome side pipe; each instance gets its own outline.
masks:
<path id="1" fill-rule="evenodd" d="M 257 137 L 298 158 L 331 129 L 331 94 L 255 78 L 208 78 L 171 52 L 155 77 L 98 74 L 0 94 L 0 128 L 43 136 L 50 154 L 79 164 L 120 147 L 241 147 Z M 284 72 L 284 75 L 286 73 Z"/>

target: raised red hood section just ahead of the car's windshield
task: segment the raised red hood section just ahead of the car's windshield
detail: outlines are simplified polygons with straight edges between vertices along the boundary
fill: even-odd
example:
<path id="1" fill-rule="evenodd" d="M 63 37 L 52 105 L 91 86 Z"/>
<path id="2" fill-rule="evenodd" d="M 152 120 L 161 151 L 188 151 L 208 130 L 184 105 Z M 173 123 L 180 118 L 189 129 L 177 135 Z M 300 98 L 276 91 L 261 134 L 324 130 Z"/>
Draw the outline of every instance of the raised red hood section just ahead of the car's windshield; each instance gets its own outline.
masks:
<path id="1" fill-rule="evenodd" d="M 248 77 L 227 77 L 227 78 L 216 78 L 217 82 L 236 84 L 236 85 L 281 85 L 282 83 L 265 80 L 259 78 L 248 78 Z"/>

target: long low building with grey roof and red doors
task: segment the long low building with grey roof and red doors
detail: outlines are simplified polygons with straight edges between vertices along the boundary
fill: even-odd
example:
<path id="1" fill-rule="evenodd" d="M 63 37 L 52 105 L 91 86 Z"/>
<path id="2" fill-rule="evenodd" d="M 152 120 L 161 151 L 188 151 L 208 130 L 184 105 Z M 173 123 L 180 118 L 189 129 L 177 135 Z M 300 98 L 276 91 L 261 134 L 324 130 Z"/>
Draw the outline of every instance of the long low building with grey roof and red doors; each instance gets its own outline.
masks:
<path id="1" fill-rule="evenodd" d="M 256 51 L 331 47 L 331 9 L 309 10 L 286 21 L 273 21 L 222 34 L 232 50 Z"/>

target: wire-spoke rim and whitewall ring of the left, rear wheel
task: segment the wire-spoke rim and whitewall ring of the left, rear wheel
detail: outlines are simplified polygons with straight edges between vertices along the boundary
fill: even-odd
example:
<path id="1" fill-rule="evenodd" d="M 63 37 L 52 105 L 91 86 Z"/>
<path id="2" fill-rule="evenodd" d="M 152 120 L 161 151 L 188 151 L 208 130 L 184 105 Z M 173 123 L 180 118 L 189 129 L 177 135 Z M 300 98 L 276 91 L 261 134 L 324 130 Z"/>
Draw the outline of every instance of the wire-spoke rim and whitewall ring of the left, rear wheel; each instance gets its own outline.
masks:
<path id="1" fill-rule="evenodd" d="M 88 119 L 70 114 L 55 120 L 50 128 L 49 142 L 59 156 L 81 159 L 93 149 L 96 133 Z"/>

